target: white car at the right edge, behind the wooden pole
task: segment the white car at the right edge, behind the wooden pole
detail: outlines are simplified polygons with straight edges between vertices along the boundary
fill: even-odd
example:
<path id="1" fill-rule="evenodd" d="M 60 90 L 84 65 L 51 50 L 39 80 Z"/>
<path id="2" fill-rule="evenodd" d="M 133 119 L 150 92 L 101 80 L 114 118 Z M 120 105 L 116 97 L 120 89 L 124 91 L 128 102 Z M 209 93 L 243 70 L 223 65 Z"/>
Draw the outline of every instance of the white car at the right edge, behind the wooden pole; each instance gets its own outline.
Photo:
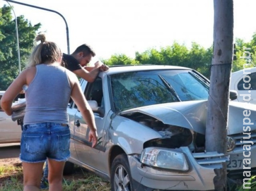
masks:
<path id="1" fill-rule="evenodd" d="M 256 104 L 256 67 L 233 72 L 230 90 L 235 90 L 238 93 L 237 99 L 234 101 Z"/>

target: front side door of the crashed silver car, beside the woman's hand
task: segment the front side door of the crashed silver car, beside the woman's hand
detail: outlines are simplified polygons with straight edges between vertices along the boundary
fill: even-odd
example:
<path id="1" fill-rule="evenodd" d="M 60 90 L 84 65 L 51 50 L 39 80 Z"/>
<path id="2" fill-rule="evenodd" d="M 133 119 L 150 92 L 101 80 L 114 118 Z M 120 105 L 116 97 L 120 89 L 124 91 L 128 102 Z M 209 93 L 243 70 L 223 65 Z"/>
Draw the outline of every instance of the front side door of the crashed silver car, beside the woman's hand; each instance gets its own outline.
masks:
<path id="1" fill-rule="evenodd" d="M 107 172 L 107 154 L 105 153 L 105 148 L 102 146 L 103 136 L 105 135 L 105 104 L 103 96 L 102 79 L 97 78 L 93 83 L 87 83 L 84 95 L 86 99 L 90 102 L 92 100 L 96 101 L 98 104 L 97 110 L 102 110 L 98 112 L 94 108 L 94 117 L 97 127 L 98 145 L 95 148 L 91 147 L 91 142 L 89 142 L 89 131 L 90 128 L 83 120 L 81 113 L 78 111 L 75 114 L 75 125 L 74 125 L 74 139 L 76 140 L 75 148 L 80 162 L 84 163 L 95 170 L 99 170 L 103 173 Z"/>

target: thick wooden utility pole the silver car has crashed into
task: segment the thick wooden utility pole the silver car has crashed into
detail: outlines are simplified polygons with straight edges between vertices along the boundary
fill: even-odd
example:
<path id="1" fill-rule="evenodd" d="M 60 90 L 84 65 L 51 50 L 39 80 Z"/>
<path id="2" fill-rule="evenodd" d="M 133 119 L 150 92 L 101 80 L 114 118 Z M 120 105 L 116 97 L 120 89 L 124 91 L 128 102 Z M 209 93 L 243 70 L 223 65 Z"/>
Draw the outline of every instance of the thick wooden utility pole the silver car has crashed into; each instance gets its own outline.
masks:
<path id="1" fill-rule="evenodd" d="M 206 151 L 227 154 L 229 84 L 233 62 L 233 0 L 214 1 L 213 57 L 206 124 Z M 227 190 L 227 167 L 214 170 L 215 191 Z"/>

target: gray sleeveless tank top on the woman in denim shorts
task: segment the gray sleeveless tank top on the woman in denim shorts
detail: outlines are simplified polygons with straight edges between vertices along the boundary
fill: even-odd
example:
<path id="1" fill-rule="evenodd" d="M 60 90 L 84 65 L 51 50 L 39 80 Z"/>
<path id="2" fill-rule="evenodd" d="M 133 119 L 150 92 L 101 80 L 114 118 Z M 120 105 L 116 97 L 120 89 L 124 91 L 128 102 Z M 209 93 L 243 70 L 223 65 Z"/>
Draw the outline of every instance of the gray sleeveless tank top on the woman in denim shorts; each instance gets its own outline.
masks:
<path id="1" fill-rule="evenodd" d="M 36 74 L 25 92 L 24 125 L 43 122 L 69 124 L 67 106 L 71 87 L 67 69 L 36 65 Z"/>

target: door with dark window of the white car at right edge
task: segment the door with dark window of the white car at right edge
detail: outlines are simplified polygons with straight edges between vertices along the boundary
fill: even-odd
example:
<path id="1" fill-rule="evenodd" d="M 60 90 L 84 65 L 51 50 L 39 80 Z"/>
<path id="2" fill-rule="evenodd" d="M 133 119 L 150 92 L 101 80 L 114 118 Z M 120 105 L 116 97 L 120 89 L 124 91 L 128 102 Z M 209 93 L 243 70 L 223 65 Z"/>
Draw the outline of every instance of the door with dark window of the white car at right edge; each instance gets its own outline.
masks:
<path id="1" fill-rule="evenodd" d="M 244 77 L 245 75 L 247 76 Z M 256 72 L 240 75 L 234 87 L 237 90 L 239 102 L 256 104 Z"/>

